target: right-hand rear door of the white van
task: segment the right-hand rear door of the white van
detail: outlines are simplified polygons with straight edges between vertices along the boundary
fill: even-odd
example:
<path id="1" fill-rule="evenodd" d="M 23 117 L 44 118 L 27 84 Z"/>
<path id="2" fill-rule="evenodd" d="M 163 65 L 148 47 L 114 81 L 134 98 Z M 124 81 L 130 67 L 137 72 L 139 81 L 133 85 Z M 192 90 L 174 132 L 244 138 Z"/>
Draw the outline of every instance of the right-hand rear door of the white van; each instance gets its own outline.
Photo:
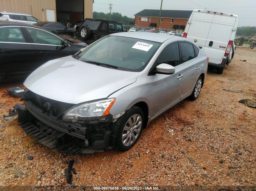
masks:
<path id="1" fill-rule="evenodd" d="M 203 49 L 203 52 L 209 57 L 209 62 L 221 64 L 235 21 L 236 17 L 214 14 L 211 28 Z"/>

